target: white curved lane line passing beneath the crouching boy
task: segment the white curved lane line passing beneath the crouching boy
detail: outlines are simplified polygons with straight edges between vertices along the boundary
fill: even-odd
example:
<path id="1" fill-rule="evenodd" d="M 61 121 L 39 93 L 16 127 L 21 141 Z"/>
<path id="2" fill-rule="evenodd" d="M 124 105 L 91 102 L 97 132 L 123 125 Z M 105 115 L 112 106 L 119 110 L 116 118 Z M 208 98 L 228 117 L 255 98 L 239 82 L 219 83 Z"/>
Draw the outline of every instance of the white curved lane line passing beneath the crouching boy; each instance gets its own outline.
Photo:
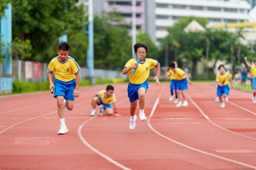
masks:
<path id="1" fill-rule="evenodd" d="M 123 103 L 125 100 L 127 100 L 127 98 L 124 98 L 123 100 L 121 100 L 120 102 L 118 102 L 116 104 L 116 106 L 118 106 L 119 104 Z M 98 115 L 96 115 L 95 117 L 97 117 Z M 87 121 L 85 121 L 84 123 L 82 123 L 82 125 L 80 125 L 80 127 L 78 128 L 77 134 L 80 137 L 81 141 L 92 151 L 94 151 L 96 154 L 100 155 L 102 158 L 108 160 L 109 162 L 111 162 L 112 164 L 118 166 L 119 168 L 122 168 L 123 170 L 132 170 L 130 168 L 127 168 L 126 166 L 116 162 L 115 160 L 113 160 L 112 158 L 108 157 L 107 155 L 103 154 L 102 152 L 98 151 L 97 149 L 95 149 L 94 147 L 92 147 L 82 136 L 81 133 L 81 129 L 84 126 L 85 123 L 87 123 L 88 121 L 94 119 L 95 117 L 92 117 L 91 119 L 88 119 Z"/>

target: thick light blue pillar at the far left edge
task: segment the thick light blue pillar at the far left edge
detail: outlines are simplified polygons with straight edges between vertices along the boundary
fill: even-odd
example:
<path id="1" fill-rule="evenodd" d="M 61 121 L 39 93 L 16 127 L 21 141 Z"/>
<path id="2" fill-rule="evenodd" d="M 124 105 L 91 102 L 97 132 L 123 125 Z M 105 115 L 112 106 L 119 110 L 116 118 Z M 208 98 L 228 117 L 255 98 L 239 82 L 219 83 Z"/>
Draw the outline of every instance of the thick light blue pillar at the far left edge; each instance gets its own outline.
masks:
<path id="1" fill-rule="evenodd" d="M 4 10 L 4 17 L 1 18 L 1 42 L 5 47 L 2 48 L 2 54 L 5 56 L 4 72 L 12 74 L 12 56 L 10 55 L 12 43 L 12 4 L 7 4 Z"/>

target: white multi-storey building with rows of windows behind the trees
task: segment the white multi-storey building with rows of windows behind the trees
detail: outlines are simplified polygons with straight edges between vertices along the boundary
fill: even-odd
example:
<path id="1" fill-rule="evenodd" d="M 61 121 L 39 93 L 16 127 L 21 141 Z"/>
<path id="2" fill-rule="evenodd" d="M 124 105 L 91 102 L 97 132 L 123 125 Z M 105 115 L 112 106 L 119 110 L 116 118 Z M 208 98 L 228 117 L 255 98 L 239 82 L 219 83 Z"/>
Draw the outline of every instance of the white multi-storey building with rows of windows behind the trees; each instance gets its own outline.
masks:
<path id="1" fill-rule="evenodd" d="M 174 25 L 180 17 L 208 18 L 215 23 L 246 22 L 251 5 L 246 0 L 155 0 L 156 39 L 168 35 L 166 27 Z"/>

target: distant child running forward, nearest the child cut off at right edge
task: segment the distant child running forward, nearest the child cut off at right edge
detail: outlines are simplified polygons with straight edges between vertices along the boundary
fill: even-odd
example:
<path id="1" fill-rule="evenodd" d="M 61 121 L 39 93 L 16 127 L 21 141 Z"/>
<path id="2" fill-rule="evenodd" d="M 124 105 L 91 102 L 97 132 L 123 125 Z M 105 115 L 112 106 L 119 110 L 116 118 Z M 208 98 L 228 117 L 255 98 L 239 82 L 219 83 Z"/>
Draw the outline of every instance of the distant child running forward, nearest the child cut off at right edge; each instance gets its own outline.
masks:
<path id="1" fill-rule="evenodd" d="M 216 75 L 216 82 L 218 84 L 217 88 L 217 96 L 220 98 L 220 102 L 222 103 L 220 107 L 224 108 L 225 103 L 222 101 L 222 95 L 224 97 L 225 102 L 228 102 L 228 94 L 229 94 L 229 86 L 228 86 L 228 81 L 231 83 L 231 87 L 233 88 L 233 82 L 232 79 L 230 78 L 230 75 L 228 72 L 225 72 L 226 69 L 224 65 L 220 65 L 218 67 L 220 73 Z"/>

